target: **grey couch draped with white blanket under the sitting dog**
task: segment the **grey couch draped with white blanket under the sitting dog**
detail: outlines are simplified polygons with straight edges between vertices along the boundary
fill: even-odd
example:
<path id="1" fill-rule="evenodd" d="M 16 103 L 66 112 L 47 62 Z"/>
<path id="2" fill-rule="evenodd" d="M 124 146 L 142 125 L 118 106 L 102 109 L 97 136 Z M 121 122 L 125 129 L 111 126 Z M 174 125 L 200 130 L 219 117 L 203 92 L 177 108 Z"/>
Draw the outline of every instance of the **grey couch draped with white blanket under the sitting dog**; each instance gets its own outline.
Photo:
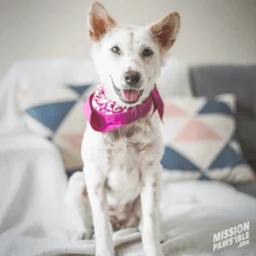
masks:
<path id="1" fill-rule="evenodd" d="M 163 95 L 237 96 L 241 147 L 255 168 L 256 67 L 188 67 L 170 61 L 158 82 Z M 96 84 L 91 61 L 22 60 L 0 82 L 0 255 L 94 255 L 95 241 L 71 241 L 73 225 L 65 205 L 67 176 L 61 154 L 44 137 L 26 129 L 17 109 L 17 88 Z M 246 89 L 245 89 L 246 88 Z M 253 93 L 254 92 L 254 93 Z M 255 170 L 255 169 L 254 169 Z M 239 192 L 238 190 L 242 191 Z M 247 195 L 249 194 L 249 195 Z M 234 255 L 256 252 L 255 183 L 213 181 L 163 183 L 160 201 L 166 256 Z M 249 244 L 213 251 L 213 234 L 250 222 Z M 136 229 L 113 235 L 116 255 L 142 256 Z"/>

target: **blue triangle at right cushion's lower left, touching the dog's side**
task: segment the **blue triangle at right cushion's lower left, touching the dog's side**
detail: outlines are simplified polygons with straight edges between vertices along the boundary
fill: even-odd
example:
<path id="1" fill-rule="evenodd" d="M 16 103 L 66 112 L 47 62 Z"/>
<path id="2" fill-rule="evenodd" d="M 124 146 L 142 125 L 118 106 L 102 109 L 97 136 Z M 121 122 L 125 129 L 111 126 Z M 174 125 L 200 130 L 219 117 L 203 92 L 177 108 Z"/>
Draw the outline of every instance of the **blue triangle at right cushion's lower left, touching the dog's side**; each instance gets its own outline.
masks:
<path id="1" fill-rule="evenodd" d="M 168 170 L 199 171 L 197 166 L 170 147 L 165 148 L 161 165 Z"/>

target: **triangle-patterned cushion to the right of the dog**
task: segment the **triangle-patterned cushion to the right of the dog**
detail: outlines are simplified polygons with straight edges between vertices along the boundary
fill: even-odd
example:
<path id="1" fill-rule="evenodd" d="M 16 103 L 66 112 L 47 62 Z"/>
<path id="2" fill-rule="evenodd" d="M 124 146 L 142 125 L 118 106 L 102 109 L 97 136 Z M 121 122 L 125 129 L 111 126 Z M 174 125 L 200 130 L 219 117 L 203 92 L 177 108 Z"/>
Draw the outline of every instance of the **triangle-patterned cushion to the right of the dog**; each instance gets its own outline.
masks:
<path id="1" fill-rule="evenodd" d="M 237 139 L 235 114 L 232 95 L 165 99 L 161 164 L 172 180 L 253 178 Z"/>

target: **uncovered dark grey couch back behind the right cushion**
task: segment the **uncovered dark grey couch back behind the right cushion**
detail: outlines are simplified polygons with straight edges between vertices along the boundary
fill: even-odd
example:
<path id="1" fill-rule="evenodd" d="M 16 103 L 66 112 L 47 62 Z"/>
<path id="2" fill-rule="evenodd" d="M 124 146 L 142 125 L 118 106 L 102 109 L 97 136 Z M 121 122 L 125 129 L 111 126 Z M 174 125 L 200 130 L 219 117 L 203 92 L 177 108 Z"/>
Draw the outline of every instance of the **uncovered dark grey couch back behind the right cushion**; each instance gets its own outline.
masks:
<path id="1" fill-rule="evenodd" d="M 256 65 L 195 65 L 189 68 L 189 83 L 194 96 L 236 96 L 239 141 L 256 172 Z"/>

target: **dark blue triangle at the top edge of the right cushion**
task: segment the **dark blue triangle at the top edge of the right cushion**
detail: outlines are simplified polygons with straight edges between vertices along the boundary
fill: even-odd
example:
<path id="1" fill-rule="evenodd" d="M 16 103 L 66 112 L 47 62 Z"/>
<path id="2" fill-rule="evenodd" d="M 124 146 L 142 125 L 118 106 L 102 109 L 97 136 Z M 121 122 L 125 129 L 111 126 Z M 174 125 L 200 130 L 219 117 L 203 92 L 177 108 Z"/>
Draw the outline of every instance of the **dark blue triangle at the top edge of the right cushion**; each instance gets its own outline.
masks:
<path id="1" fill-rule="evenodd" d="M 216 100 L 209 100 L 201 108 L 198 113 L 223 113 L 228 115 L 234 115 L 230 107 L 224 102 L 218 102 Z"/>

